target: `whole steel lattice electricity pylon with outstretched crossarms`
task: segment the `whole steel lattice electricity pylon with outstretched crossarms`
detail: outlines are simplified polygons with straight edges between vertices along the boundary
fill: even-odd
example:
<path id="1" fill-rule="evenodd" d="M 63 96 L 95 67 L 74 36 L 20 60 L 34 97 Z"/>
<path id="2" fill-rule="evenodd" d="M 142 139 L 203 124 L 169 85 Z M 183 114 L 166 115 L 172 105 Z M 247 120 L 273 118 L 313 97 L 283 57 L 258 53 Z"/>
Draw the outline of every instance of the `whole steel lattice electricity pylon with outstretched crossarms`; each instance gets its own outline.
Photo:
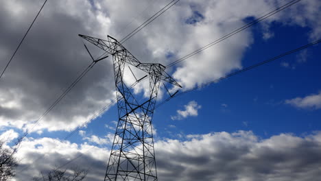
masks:
<path id="1" fill-rule="evenodd" d="M 165 72 L 165 67 L 162 64 L 139 62 L 111 36 L 107 36 L 107 40 L 79 36 L 112 55 L 114 65 L 119 120 L 108 160 L 105 181 L 157 180 L 152 117 L 158 88 L 161 80 L 181 87 L 180 84 Z M 141 69 L 149 75 L 150 95 L 147 100 L 137 101 L 132 94 L 131 87 L 125 84 L 123 73 L 126 64 Z M 136 80 L 136 82 L 143 80 L 143 78 Z"/>

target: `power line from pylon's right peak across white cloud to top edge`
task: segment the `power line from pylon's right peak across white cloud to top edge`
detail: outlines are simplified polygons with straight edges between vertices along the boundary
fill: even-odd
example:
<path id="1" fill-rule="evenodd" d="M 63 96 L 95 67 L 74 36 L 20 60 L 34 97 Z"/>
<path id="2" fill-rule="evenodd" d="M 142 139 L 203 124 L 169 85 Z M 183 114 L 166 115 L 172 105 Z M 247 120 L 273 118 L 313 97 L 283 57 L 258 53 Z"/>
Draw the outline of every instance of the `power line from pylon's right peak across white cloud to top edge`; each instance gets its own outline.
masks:
<path id="1" fill-rule="evenodd" d="M 301 1 L 301 0 L 290 1 L 289 3 L 286 3 L 285 5 L 282 5 L 281 7 L 276 8 L 276 10 L 273 10 L 272 12 L 269 12 L 268 14 L 261 16 L 259 19 L 255 19 L 254 21 L 252 21 L 246 25 L 243 25 L 243 27 L 239 27 L 238 29 L 235 29 L 233 32 L 230 32 L 229 34 L 226 34 L 225 36 L 218 38 L 217 40 L 213 41 L 212 43 L 209 43 L 208 45 L 205 45 L 204 47 L 197 49 L 197 50 L 193 51 L 192 53 L 189 53 L 186 56 L 183 56 L 182 58 L 175 60 L 174 62 L 171 62 L 166 67 L 172 67 L 175 64 L 178 64 L 179 62 L 182 62 L 182 61 L 186 60 L 187 58 L 190 58 L 191 56 L 194 56 L 195 54 L 200 53 L 201 51 L 204 51 L 205 49 L 208 49 L 209 47 L 212 47 L 213 45 L 216 45 L 217 43 L 220 43 L 227 38 L 230 38 L 230 36 L 233 36 L 241 31 L 243 31 L 244 29 L 247 29 L 248 27 L 251 27 L 252 25 L 255 25 L 255 24 L 263 21 L 264 19 L 267 19 L 268 17 L 270 17 L 278 12 L 281 12 L 282 10 L 285 10 L 286 8 L 289 8 L 291 5 L 294 5 L 295 3 L 298 3 L 299 1 Z"/>

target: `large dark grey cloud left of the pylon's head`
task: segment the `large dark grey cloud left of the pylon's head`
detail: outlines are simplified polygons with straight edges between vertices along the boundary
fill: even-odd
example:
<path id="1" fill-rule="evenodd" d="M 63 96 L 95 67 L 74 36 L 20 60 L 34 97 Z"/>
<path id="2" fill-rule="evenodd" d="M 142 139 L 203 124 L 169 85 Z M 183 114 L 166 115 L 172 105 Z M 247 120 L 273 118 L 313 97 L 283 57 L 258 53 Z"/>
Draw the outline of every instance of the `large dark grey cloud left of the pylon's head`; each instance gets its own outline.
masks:
<path id="1" fill-rule="evenodd" d="M 6 1 L 0 7 L 0 67 L 40 8 L 38 1 Z M 102 17 L 99 19 L 99 17 Z M 89 1 L 51 1 L 1 78 L 0 126 L 30 128 L 91 63 L 78 34 L 105 34 L 108 18 Z M 93 29 L 96 29 L 93 31 Z M 114 98 L 109 61 L 100 62 L 32 131 L 73 130 Z"/>

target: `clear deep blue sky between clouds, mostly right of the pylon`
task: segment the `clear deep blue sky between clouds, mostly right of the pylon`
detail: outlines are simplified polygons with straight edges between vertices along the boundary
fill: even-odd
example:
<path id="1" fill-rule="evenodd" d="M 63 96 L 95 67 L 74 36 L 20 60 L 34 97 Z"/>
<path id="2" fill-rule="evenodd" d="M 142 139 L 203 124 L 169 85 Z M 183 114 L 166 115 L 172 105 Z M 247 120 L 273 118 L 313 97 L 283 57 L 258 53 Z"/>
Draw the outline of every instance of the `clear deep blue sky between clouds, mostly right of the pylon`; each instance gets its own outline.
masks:
<path id="1" fill-rule="evenodd" d="M 309 43 L 309 28 L 276 23 L 271 29 L 274 29 L 274 37 L 264 40 L 260 28 L 253 28 L 254 44 L 242 58 L 243 67 Z M 171 99 L 155 110 L 157 136 L 179 139 L 176 134 L 252 130 L 262 138 L 267 138 L 287 132 L 301 135 L 320 130 L 320 109 L 302 109 L 285 104 L 287 99 L 318 94 L 320 91 L 320 46 L 304 51 L 307 58 L 305 62 L 299 62 L 300 53 L 302 51 Z M 295 68 L 284 67 L 284 62 Z M 176 110 L 184 110 L 189 101 L 196 101 L 202 106 L 198 116 L 172 120 L 171 116 L 177 114 Z M 104 135 L 106 128 L 97 130 L 97 126 L 104 123 L 112 125 L 111 121 L 117 120 L 115 112 L 116 106 L 98 118 L 96 123 L 88 125 L 87 130 Z M 175 125 L 176 128 L 170 128 L 169 125 Z"/>

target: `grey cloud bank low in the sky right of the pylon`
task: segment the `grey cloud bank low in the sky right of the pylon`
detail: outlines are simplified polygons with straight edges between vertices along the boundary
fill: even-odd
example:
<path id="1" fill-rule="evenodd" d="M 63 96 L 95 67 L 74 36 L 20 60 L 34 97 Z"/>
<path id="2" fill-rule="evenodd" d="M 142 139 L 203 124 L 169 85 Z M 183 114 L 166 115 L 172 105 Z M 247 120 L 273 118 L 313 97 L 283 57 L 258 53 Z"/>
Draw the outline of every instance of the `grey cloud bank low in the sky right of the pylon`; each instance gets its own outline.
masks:
<path id="1" fill-rule="evenodd" d="M 156 143 L 162 180 L 308 181 L 321 176 L 321 134 L 280 134 L 260 139 L 252 132 L 192 135 L 188 141 Z"/>

